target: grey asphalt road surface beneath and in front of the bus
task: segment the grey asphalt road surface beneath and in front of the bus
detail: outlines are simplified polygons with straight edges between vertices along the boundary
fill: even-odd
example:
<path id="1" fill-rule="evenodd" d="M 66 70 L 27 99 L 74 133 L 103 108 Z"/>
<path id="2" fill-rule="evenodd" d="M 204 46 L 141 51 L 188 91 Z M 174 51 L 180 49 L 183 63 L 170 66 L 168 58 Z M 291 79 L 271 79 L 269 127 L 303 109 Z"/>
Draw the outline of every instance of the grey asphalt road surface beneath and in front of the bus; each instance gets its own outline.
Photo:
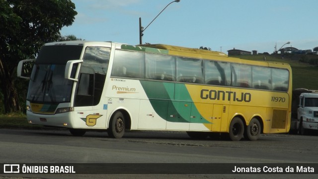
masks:
<path id="1" fill-rule="evenodd" d="M 193 140 L 184 132 L 105 132 L 72 136 L 67 130 L 0 129 L 0 163 L 317 163 L 318 135 L 262 134 L 257 141 Z M 251 164 L 252 165 L 252 164 Z M 318 170 L 318 169 L 317 169 Z M 314 179 L 317 175 L 0 175 L 40 179 Z"/>

